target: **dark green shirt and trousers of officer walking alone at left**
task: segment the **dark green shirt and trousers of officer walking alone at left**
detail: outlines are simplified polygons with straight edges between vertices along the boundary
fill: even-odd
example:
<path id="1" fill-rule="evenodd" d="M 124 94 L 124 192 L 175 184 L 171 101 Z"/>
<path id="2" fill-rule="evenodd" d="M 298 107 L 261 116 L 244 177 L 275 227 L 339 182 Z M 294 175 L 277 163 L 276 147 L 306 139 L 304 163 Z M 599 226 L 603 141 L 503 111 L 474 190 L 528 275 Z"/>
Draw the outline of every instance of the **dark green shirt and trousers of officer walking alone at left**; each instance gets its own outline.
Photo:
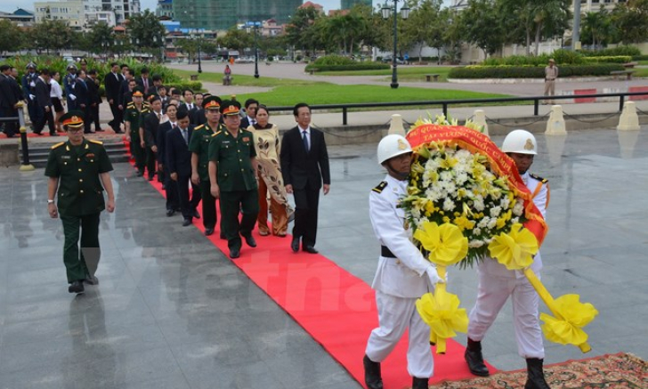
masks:
<path id="1" fill-rule="evenodd" d="M 108 154 L 98 141 L 84 140 L 78 146 L 57 143 L 47 159 L 45 175 L 59 179 L 57 207 L 65 234 L 63 263 L 70 283 L 93 276 L 99 263 L 99 217 L 105 209 L 100 174 L 111 170 Z"/>

